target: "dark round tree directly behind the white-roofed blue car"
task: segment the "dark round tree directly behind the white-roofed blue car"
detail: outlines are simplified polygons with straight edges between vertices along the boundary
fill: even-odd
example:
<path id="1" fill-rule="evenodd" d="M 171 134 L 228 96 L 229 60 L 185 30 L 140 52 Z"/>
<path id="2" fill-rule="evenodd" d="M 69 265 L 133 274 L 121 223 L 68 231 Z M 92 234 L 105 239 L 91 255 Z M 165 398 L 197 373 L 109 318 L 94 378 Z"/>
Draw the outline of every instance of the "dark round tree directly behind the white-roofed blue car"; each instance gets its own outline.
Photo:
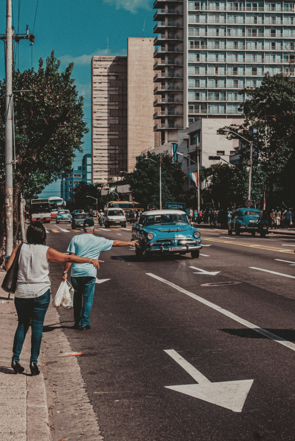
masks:
<path id="1" fill-rule="evenodd" d="M 149 161 L 146 158 L 151 158 Z M 183 186 L 183 172 L 179 164 L 173 164 L 171 156 L 161 153 L 162 170 L 162 206 L 165 202 L 179 202 Z M 159 177 L 160 154 L 147 153 L 136 157 L 135 170 L 125 177 L 136 202 L 146 208 L 147 206 L 158 207 L 160 204 L 160 177 Z"/>

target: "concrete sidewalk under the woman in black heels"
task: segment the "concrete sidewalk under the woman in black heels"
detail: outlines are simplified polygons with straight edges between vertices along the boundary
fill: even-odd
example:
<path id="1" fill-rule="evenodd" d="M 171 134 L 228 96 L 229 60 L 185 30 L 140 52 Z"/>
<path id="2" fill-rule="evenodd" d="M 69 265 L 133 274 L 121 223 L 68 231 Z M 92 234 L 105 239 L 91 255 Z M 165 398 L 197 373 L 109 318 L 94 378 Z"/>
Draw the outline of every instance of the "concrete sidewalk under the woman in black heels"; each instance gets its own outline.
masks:
<path id="1" fill-rule="evenodd" d="M 0 285 L 4 275 L 0 271 Z M 50 441 L 44 377 L 30 374 L 30 329 L 20 359 L 25 371 L 15 375 L 11 368 L 17 314 L 14 295 L 7 297 L 0 288 L 0 441 Z"/>

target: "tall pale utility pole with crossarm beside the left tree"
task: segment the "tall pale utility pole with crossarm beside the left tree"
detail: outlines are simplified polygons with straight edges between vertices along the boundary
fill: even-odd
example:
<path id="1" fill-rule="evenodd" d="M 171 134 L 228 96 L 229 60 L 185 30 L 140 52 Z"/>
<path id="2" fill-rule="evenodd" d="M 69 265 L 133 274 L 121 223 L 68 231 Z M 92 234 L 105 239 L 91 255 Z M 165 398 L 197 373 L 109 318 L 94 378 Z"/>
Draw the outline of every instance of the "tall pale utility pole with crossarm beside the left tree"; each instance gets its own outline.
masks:
<path id="1" fill-rule="evenodd" d="M 26 34 L 14 34 L 12 32 L 12 0 L 6 0 L 6 34 L 0 40 L 6 41 L 5 54 L 5 226 L 6 226 L 6 247 L 5 252 L 10 256 L 13 250 L 13 167 L 15 158 L 12 150 L 13 130 L 13 107 L 12 107 L 12 69 L 13 54 L 12 40 L 19 43 L 20 40 L 30 40 L 34 43 L 35 36 L 29 34 L 29 27 L 26 27 Z"/>

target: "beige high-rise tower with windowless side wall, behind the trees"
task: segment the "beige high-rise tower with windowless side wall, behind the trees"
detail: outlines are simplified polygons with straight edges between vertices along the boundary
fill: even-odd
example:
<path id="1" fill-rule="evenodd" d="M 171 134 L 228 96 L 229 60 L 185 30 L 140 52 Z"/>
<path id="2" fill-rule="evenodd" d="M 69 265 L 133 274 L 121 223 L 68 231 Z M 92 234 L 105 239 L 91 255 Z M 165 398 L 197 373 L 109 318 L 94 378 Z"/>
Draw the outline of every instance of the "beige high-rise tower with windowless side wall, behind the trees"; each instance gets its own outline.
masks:
<path id="1" fill-rule="evenodd" d="M 92 182 L 132 172 L 153 131 L 153 38 L 128 38 L 127 56 L 92 59 Z"/>

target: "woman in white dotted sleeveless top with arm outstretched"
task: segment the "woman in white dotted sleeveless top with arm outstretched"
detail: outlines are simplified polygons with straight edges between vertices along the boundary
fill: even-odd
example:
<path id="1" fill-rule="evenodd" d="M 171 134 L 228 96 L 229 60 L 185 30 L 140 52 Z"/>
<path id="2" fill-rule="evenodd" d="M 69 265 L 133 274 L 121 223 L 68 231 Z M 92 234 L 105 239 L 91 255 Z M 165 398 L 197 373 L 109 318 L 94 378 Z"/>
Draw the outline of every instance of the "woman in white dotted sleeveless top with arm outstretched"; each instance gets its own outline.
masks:
<path id="1" fill-rule="evenodd" d="M 15 374 L 24 368 L 19 364 L 26 333 L 31 326 L 30 371 L 32 376 L 40 374 L 37 361 L 40 353 L 43 323 L 50 302 L 49 261 L 83 263 L 99 268 L 97 259 L 78 257 L 60 253 L 45 245 L 46 231 L 41 222 L 30 224 L 26 232 L 27 243 L 19 244 L 12 251 L 6 270 L 11 267 L 16 250 L 22 245 L 19 254 L 19 271 L 15 289 L 15 309 L 18 315 L 18 326 L 13 341 L 11 367 Z"/>

